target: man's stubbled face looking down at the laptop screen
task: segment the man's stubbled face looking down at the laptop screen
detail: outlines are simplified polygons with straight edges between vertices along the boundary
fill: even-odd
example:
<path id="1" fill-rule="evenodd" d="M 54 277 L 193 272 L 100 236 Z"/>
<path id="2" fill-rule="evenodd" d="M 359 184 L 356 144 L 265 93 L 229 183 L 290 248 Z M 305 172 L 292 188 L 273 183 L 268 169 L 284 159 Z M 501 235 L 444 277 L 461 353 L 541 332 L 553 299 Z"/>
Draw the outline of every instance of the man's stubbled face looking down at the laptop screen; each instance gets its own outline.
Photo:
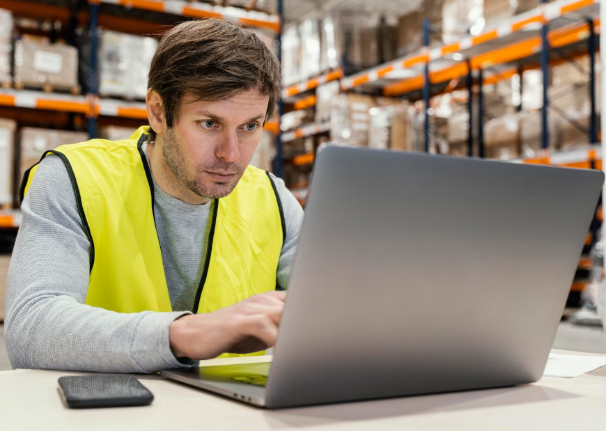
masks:
<path id="1" fill-rule="evenodd" d="M 164 160 L 179 182 L 203 198 L 233 191 L 261 141 L 269 96 L 246 91 L 217 102 L 183 98 L 163 134 Z"/>

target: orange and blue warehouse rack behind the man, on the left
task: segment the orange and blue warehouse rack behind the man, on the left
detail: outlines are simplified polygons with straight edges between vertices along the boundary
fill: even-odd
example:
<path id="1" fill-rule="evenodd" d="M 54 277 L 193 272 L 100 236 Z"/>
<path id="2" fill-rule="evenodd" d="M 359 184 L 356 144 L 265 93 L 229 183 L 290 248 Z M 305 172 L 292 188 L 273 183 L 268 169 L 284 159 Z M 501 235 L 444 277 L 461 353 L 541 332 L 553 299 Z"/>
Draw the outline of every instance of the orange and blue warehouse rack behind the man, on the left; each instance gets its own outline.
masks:
<path id="1" fill-rule="evenodd" d="M 0 8 L 7 9 L 20 17 L 59 21 L 72 27 L 88 30 L 91 46 L 88 58 L 88 93 L 86 95 L 68 95 L 62 93 L 45 93 L 42 91 L 0 89 L 1 107 L 15 107 L 21 111 L 39 110 L 42 112 L 81 114 L 86 116 L 86 127 L 91 138 L 97 137 L 97 126 L 100 118 L 115 120 L 147 120 L 144 102 L 102 98 L 98 95 L 98 27 L 121 31 L 124 33 L 155 34 L 165 31 L 182 18 L 224 18 L 232 19 L 244 26 L 265 29 L 276 33 L 277 51 L 281 42 L 282 1 L 278 1 L 278 14 L 270 15 L 256 10 L 244 10 L 235 7 L 212 6 L 207 3 L 189 1 L 161 0 L 88 0 L 86 10 L 76 7 L 77 2 L 50 2 L 34 0 L 0 0 Z M 114 13 L 102 10 L 103 6 L 114 8 Z M 121 8 L 122 10 L 120 10 Z M 112 12 L 110 11 L 110 12 Z M 170 16 L 151 22 L 143 16 L 125 17 L 125 11 L 151 13 L 155 17 Z M 116 13 L 117 12 L 117 13 Z M 166 24 L 166 25 L 164 25 Z M 281 109 L 281 107 L 280 107 Z M 19 116 L 19 110 L 15 112 Z M 28 116 L 31 118 L 31 116 Z M 264 129 L 279 134 L 279 124 L 268 122 Z M 277 144 L 277 160 L 281 160 L 281 146 Z M 281 169 L 281 164 L 277 166 Z M 278 169 L 278 171 L 279 171 Z M 20 212 L 3 212 L 0 215 L 0 228 L 16 228 L 20 224 Z"/>

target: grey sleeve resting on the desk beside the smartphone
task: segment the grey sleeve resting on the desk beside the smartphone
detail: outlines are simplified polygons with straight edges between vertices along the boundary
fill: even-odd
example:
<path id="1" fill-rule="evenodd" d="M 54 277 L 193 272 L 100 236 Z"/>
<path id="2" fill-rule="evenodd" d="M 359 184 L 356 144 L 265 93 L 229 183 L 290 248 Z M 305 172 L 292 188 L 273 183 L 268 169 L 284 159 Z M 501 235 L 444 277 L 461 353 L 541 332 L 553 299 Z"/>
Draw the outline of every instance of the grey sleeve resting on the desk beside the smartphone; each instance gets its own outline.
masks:
<path id="1" fill-rule="evenodd" d="M 84 304 L 90 242 L 65 165 L 38 166 L 7 279 L 5 339 L 13 368 L 155 373 L 182 367 L 169 326 L 180 313 L 116 313 Z"/>

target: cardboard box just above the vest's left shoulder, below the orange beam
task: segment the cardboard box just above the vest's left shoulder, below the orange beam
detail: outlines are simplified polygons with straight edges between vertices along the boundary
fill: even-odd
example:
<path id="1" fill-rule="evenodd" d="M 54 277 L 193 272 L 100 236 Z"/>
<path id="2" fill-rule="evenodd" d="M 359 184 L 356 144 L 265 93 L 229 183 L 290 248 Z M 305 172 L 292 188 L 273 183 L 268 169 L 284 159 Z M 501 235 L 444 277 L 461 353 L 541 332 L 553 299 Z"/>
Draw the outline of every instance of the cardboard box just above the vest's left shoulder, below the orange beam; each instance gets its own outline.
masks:
<path id="1" fill-rule="evenodd" d="M 84 141 L 88 141 L 88 134 L 84 132 L 23 127 L 20 131 L 20 178 L 23 178 L 25 171 L 40 161 L 46 151 L 64 144 Z"/>

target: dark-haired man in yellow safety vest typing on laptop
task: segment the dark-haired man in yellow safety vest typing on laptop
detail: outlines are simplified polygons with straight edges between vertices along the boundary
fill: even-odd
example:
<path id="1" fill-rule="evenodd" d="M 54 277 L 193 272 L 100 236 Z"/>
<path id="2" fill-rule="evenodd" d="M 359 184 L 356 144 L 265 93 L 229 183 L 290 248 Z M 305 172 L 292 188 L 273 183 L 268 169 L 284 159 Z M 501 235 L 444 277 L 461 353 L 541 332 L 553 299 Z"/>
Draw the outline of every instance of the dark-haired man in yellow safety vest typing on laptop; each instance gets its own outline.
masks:
<path id="1" fill-rule="evenodd" d="M 61 146 L 26 173 L 13 367 L 153 373 L 274 345 L 303 211 L 247 164 L 279 68 L 238 24 L 180 24 L 152 61 L 149 128 Z"/>

